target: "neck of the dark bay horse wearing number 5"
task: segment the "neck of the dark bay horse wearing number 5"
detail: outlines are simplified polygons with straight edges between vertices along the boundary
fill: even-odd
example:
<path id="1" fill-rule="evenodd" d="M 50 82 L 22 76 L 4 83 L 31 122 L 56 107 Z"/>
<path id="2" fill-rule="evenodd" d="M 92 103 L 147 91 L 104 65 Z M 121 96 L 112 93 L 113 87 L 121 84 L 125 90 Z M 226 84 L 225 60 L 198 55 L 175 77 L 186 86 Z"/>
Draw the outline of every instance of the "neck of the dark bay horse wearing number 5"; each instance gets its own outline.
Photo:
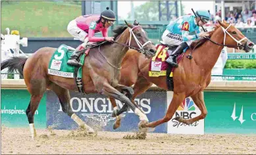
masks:
<path id="1" fill-rule="evenodd" d="M 127 32 L 123 32 L 120 37 L 116 39 L 116 42 L 126 44 L 127 37 L 124 37 L 125 33 Z M 103 55 L 107 58 L 107 60 L 109 60 L 109 62 L 111 62 L 111 64 L 121 66 L 122 59 L 128 51 L 128 47 L 118 45 L 117 43 L 112 43 L 109 46 L 105 46 L 104 49 L 102 48 L 101 50 L 103 51 Z"/>

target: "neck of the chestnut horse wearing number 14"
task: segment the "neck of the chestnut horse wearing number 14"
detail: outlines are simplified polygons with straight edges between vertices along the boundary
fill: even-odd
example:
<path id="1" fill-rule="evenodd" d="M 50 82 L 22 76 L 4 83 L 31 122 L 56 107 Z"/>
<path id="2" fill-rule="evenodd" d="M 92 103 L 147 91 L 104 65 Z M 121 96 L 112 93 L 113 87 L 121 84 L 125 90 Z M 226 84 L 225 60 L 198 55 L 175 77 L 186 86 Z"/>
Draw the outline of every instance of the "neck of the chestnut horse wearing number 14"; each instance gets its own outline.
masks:
<path id="1" fill-rule="evenodd" d="M 218 28 L 218 30 L 216 30 L 216 32 L 211 36 L 211 40 L 215 41 L 216 43 L 223 44 L 223 39 L 224 33 L 222 32 L 221 28 Z M 216 45 L 209 40 L 206 41 L 203 45 L 201 45 L 201 47 L 193 52 L 199 56 L 197 59 L 199 61 L 197 62 L 197 65 L 199 64 L 200 68 L 203 69 L 205 73 L 209 74 L 209 72 L 211 72 L 215 66 L 222 49 L 222 46 Z"/>

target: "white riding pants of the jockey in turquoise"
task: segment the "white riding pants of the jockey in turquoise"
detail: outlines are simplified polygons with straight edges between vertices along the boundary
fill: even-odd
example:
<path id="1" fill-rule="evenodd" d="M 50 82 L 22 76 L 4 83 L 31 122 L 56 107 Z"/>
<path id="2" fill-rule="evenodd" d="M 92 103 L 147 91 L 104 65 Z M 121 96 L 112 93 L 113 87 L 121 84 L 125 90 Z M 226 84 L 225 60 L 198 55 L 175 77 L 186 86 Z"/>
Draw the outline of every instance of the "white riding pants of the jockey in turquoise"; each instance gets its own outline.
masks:
<path id="1" fill-rule="evenodd" d="M 186 42 L 188 45 L 190 45 L 193 41 L 183 41 L 182 35 L 171 33 L 168 30 L 165 30 L 165 32 L 162 35 L 162 40 L 167 45 L 180 45 L 183 42 Z"/>

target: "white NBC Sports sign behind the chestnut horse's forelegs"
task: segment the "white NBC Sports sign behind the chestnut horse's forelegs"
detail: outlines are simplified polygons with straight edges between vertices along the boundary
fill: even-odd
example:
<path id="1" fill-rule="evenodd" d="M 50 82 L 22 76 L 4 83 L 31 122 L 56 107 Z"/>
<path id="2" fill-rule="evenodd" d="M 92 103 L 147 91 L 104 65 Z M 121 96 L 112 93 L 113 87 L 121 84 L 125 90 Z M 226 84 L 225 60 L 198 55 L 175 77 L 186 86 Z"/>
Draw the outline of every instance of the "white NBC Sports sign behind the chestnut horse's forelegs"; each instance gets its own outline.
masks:
<path id="1" fill-rule="evenodd" d="M 172 100 L 173 92 L 167 92 L 167 104 L 170 104 Z M 168 107 L 168 106 L 167 106 Z M 185 123 L 178 122 L 174 120 L 177 116 L 182 116 L 184 119 L 195 118 L 199 116 L 201 111 L 197 108 L 195 103 L 190 97 L 187 97 L 180 103 L 178 110 L 174 113 L 172 119 L 168 122 L 167 133 L 176 133 L 176 134 L 204 134 L 204 120 L 199 120 L 197 122 L 193 122 L 190 125 L 186 125 Z"/>

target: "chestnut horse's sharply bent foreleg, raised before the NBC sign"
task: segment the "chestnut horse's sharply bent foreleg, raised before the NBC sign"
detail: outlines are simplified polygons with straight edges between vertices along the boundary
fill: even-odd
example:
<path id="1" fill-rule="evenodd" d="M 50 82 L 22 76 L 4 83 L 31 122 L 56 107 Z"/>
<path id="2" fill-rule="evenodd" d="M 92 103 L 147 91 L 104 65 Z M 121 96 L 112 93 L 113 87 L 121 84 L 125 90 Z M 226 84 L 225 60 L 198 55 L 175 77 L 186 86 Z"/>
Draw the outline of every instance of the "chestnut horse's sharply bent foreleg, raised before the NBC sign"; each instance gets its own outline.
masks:
<path id="1" fill-rule="evenodd" d="M 199 108 L 199 110 L 201 110 L 201 114 L 195 118 L 191 118 L 188 120 L 185 120 L 184 118 L 178 116 L 175 118 L 175 120 L 178 120 L 179 122 L 182 123 L 186 123 L 187 125 L 193 123 L 193 122 L 197 122 L 199 120 L 202 120 L 205 118 L 205 116 L 207 115 L 207 109 L 205 107 L 205 101 L 203 100 L 203 91 L 200 91 L 199 93 L 191 96 L 193 99 L 193 102 L 195 103 L 195 105 L 197 105 L 197 107 Z"/>

